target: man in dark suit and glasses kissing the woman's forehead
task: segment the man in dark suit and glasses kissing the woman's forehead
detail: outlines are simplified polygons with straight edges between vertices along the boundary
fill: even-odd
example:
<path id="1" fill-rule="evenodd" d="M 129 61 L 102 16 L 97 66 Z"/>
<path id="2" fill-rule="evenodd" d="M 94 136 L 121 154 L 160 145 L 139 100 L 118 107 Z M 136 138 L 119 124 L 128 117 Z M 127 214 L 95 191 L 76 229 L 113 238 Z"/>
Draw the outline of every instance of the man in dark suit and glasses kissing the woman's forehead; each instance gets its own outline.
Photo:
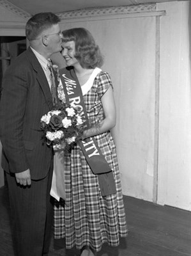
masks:
<path id="1" fill-rule="evenodd" d="M 52 108 L 51 54 L 61 51 L 59 17 L 38 13 L 26 24 L 30 47 L 6 70 L 0 102 L 2 166 L 6 172 L 17 256 L 48 255 L 53 207 L 53 150 L 40 119 Z"/>

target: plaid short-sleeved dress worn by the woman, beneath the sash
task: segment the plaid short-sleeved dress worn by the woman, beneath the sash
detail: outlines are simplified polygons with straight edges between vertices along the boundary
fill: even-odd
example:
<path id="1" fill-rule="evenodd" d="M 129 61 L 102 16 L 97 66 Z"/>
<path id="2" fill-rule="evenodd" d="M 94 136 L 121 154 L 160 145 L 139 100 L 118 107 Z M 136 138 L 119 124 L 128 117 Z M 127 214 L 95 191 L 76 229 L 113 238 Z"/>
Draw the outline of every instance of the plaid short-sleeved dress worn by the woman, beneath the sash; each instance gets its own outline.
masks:
<path id="1" fill-rule="evenodd" d="M 100 72 L 86 95 L 89 124 L 103 120 L 101 98 L 112 86 L 109 74 Z M 103 156 L 114 174 L 117 193 L 102 197 L 97 175 L 91 172 L 79 145 L 65 155 L 65 205 L 54 207 L 54 237 L 65 237 L 66 248 L 85 245 L 100 251 L 103 243 L 118 246 L 119 236 L 127 235 L 125 209 L 116 148 L 111 132 L 95 136 Z"/>

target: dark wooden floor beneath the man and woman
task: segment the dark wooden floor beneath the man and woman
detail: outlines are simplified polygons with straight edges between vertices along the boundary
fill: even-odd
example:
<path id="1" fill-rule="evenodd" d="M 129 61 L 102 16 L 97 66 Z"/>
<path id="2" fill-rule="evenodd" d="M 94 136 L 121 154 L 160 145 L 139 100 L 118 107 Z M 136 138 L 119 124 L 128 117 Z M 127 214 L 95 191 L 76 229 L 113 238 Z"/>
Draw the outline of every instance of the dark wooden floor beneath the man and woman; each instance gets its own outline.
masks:
<path id="1" fill-rule="evenodd" d="M 124 196 L 129 234 L 118 248 L 103 245 L 98 256 L 191 256 L 191 212 Z M 0 256 L 13 256 L 6 186 L 0 188 Z M 49 256 L 78 256 L 52 238 Z M 27 255 L 26 255 L 27 256 Z M 35 255 L 34 255 L 35 256 Z"/>

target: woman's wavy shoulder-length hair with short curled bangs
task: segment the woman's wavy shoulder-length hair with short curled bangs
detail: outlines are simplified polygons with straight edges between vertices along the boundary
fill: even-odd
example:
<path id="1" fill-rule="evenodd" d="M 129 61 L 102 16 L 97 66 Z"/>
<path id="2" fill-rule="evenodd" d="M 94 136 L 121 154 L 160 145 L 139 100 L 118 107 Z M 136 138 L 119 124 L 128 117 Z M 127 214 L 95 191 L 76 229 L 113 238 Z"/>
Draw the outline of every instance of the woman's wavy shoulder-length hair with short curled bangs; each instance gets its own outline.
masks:
<path id="1" fill-rule="evenodd" d="M 103 56 L 91 33 L 85 28 L 64 30 L 63 42 L 75 42 L 75 58 L 82 68 L 102 67 Z"/>

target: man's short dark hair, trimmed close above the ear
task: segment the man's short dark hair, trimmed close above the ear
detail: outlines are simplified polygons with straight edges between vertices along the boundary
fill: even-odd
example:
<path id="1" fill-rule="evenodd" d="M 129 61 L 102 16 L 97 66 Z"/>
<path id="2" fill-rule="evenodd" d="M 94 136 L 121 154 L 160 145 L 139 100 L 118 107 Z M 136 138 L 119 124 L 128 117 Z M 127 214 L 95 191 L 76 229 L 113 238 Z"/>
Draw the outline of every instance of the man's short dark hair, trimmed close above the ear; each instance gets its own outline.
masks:
<path id="1" fill-rule="evenodd" d="M 60 22 L 59 17 L 52 12 L 37 13 L 26 23 L 26 37 L 29 41 L 35 40 L 45 29 Z"/>

